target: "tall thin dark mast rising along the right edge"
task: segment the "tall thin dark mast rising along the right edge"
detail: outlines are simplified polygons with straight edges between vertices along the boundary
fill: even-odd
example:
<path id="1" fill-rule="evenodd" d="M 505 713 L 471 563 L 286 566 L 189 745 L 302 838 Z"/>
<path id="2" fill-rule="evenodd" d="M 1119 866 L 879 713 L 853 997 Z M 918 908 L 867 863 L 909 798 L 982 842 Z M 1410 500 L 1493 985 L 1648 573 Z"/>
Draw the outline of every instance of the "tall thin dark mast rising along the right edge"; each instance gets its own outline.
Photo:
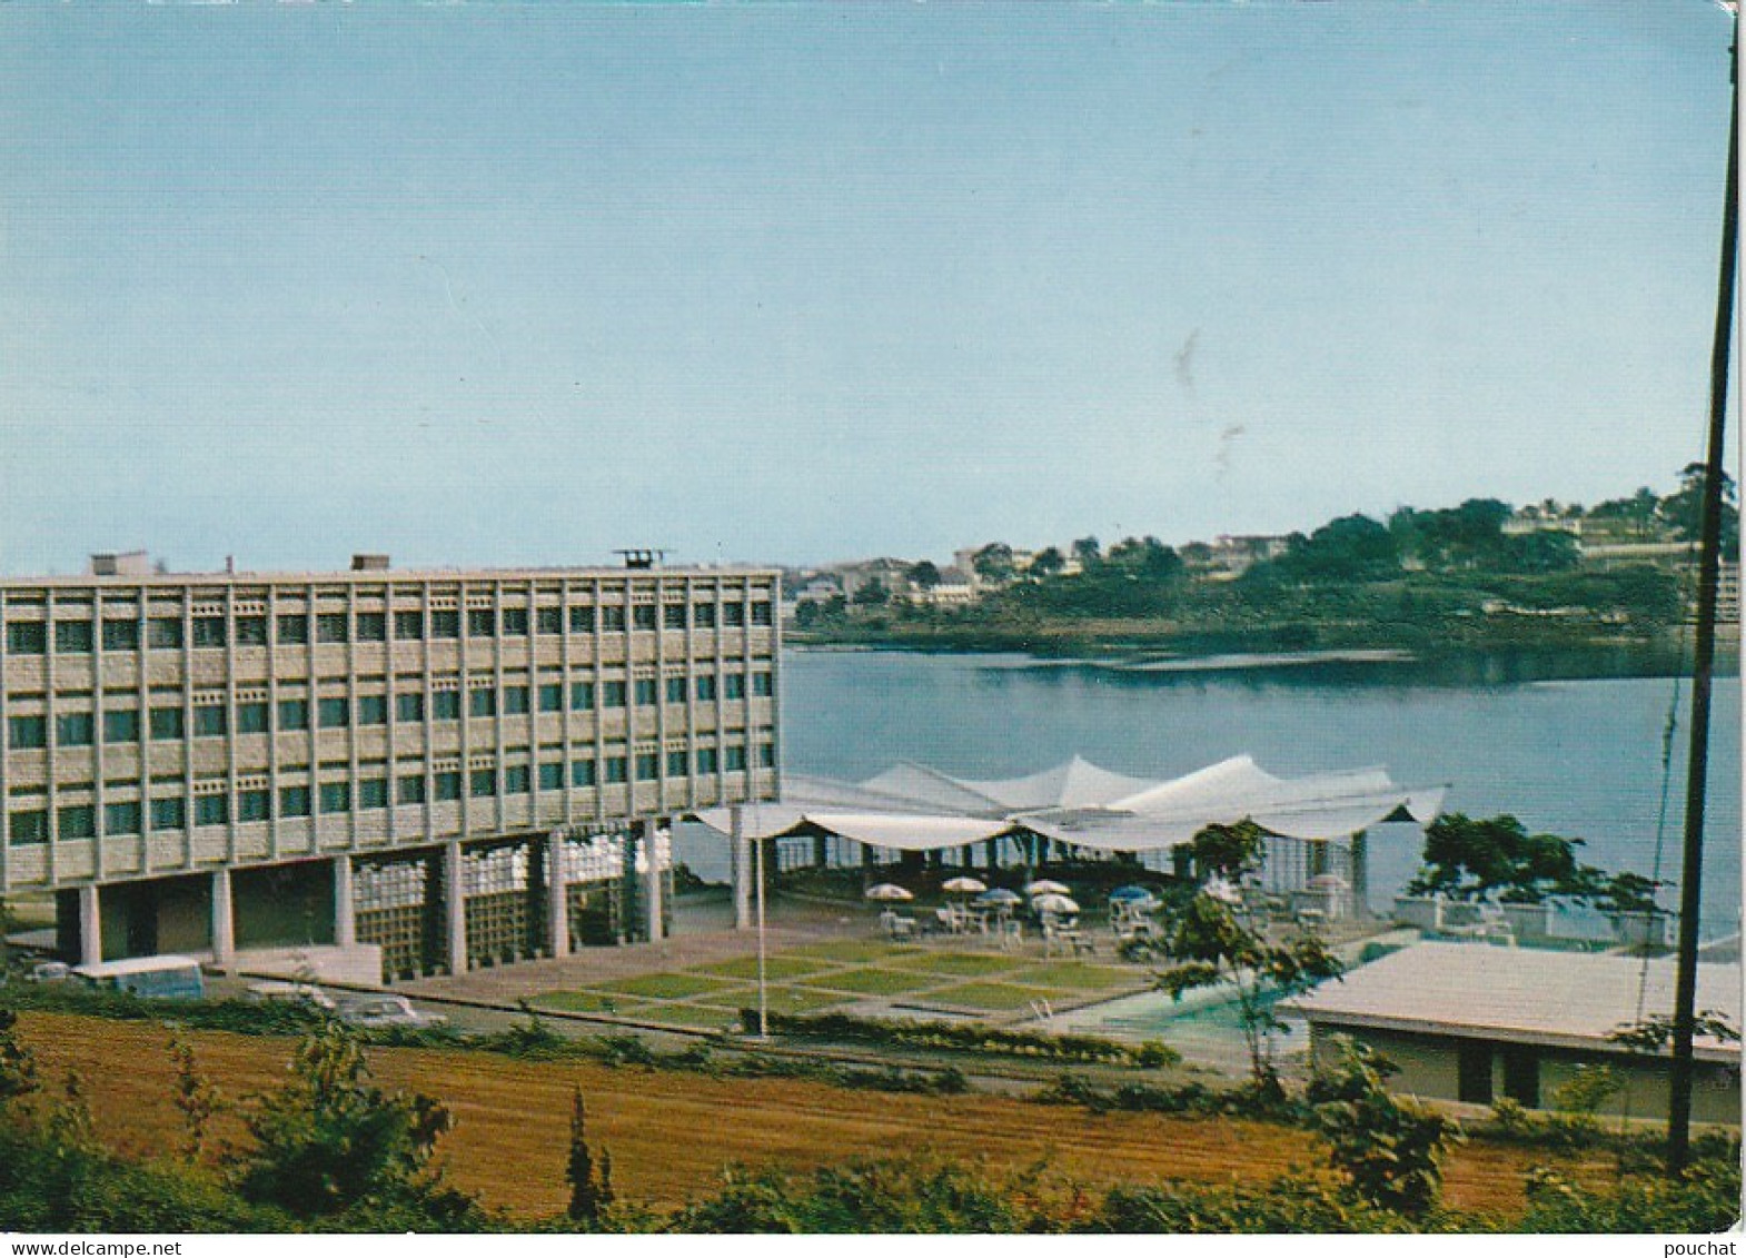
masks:
<path id="1" fill-rule="evenodd" d="M 1680 875 L 1680 975 L 1673 998 L 1673 1078 L 1667 1102 L 1667 1171 L 1685 1169 L 1692 1146 L 1692 1029 L 1697 1005 L 1697 916 L 1702 907 L 1704 786 L 1709 774 L 1709 683 L 1716 659 L 1716 580 L 1722 570 L 1722 446 L 1727 432 L 1729 342 L 1734 332 L 1734 264 L 1739 238 L 1739 17 L 1729 51 L 1734 84 L 1729 110 L 1727 204 L 1722 211 L 1722 274 L 1716 335 L 1709 349 L 1709 451 L 1697 561 L 1697 660 L 1692 669 L 1692 751 L 1685 779 L 1685 861 Z"/>

